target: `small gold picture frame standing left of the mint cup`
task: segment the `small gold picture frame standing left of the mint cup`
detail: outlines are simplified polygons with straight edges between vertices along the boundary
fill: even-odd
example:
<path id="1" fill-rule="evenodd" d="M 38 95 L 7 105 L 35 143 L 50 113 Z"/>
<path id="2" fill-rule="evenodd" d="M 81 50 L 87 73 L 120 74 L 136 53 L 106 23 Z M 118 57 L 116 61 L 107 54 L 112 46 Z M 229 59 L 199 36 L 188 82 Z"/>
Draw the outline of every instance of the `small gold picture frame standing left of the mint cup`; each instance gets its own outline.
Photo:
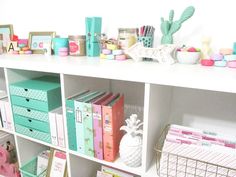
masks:
<path id="1" fill-rule="evenodd" d="M 52 39 L 56 32 L 30 32 L 29 33 L 29 48 L 34 54 L 44 54 L 52 49 Z"/>

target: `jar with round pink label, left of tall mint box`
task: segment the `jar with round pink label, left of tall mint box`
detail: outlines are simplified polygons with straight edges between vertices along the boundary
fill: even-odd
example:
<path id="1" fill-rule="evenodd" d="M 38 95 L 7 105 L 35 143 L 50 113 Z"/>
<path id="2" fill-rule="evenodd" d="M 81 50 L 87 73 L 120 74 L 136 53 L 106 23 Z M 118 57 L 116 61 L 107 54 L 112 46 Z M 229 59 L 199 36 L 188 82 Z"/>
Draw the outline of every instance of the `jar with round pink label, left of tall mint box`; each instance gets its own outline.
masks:
<path id="1" fill-rule="evenodd" d="M 86 36 L 77 35 L 69 36 L 69 54 L 72 56 L 85 56 L 86 55 Z"/>

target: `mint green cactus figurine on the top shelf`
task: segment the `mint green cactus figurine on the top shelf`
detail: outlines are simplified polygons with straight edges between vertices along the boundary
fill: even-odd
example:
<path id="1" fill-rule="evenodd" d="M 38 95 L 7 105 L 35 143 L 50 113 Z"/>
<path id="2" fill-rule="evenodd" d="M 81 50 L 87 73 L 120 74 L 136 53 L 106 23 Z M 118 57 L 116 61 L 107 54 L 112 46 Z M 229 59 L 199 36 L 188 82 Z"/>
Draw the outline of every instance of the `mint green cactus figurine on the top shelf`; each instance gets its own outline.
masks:
<path id="1" fill-rule="evenodd" d="M 184 21 L 188 20 L 193 16 L 195 8 L 193 6 L 187 7 L 182 13 L 179 20 L 173 22 L 174 19 L 174 11 L 171 10 L 169 13 L 169 20 L 164 20 L 161 18 L 161 44 L 173 44 L 173 34 L 177 32 Z"/>

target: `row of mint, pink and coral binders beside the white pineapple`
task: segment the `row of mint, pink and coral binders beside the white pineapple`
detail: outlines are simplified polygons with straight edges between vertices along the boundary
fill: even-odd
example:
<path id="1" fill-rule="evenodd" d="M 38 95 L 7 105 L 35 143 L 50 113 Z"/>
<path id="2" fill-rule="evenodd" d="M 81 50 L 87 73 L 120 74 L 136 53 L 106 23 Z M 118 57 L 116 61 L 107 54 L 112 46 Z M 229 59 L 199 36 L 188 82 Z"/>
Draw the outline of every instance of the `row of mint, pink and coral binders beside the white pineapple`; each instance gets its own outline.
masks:
<path id="1" fill-rule="evenodd" d="M 69 148 L 101 160 L 114 161 L 124 122 L 124 95 L 83 91 L 66 100 Z"/>

